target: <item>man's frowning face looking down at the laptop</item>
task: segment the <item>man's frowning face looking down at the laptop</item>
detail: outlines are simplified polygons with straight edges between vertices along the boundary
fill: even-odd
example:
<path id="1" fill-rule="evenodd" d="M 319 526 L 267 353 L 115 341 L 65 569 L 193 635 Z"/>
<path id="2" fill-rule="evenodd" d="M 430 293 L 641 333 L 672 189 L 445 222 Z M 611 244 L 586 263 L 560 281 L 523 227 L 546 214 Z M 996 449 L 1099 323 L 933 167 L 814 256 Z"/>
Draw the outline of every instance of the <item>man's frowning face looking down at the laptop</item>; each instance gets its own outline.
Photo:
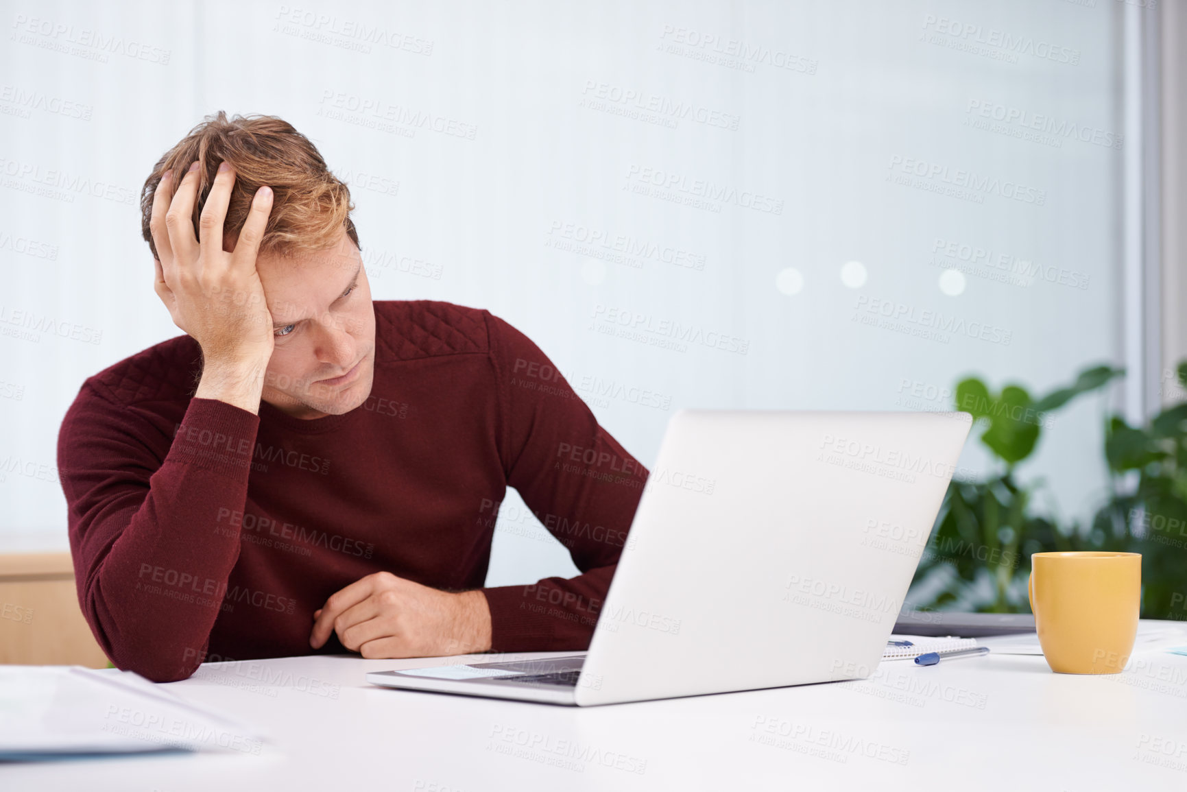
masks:
<path id="1" fill-rule="evenodd" d="M 255 261 L 275 349 L 262 398 L 297 418 L 337 416 L 370 395 L 375 309 L 358 248 L 342 232 L 335 247 Z"/>

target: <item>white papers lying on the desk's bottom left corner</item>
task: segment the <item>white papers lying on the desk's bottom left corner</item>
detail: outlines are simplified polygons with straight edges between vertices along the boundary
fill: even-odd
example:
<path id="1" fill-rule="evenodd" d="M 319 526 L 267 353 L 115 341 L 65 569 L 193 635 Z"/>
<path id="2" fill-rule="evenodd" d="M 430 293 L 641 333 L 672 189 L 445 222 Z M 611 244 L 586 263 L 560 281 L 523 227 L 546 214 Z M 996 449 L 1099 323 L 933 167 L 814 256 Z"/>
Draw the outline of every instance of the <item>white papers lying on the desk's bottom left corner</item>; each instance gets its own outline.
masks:
<path id="1" fill-rule="evenodd" d="M 0 666 L 0 758 L 152 750 L 259 754 L 264 735 L 131 672 Z"/>

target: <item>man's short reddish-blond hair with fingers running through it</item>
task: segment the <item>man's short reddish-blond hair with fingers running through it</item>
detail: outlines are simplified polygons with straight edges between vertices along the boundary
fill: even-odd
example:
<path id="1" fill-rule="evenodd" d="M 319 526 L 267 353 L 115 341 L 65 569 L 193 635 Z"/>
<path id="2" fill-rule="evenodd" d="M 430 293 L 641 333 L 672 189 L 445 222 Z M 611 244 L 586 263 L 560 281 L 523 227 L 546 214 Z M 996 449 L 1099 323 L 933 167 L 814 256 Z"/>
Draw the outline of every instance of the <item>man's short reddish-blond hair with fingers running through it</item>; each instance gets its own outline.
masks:
<path id="1" fill-rule="evenodd" d="M 165 171 L 172 169 L 169 198 L 193 160 L 198 161 L 198 199 L 193 207 L 193 234 L 201 239 L 198 221 L 223 160 L 235 169 L 227 217 L 223 221 L 223 249 L 233 249 L 247 222 L 255 191 L 264 184 L 273 190 L 272 214 L 260 241 L 260 254 L 300 254 L 329 248 L 342 228 L 354 243 L 358 233 L 350 220 L 355 208 L 350 190 L 330 172 L 325 160 L 309 138 L 275 115 L 208 115 L 190 129 L 176 146 L 157 160 L 140 194 L 140 224 L 145 241 L 157 255 L 153 243 L 153 194 Z M 362 249 L 360 247 L 360 249 Z"/>

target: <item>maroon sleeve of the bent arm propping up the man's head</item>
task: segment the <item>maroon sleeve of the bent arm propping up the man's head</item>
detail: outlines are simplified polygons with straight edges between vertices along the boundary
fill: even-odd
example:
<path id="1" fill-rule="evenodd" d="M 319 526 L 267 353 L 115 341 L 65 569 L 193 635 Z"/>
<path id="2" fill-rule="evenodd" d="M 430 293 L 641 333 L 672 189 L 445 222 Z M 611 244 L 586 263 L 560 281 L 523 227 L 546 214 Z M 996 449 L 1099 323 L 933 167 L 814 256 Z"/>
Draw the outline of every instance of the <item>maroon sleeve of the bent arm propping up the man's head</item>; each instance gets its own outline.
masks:
<path id="1" fill-rule="evenodd" d="M 259 417 L 191 399 L 163 426 L 87 384 L 58 433 L 78 602 L 119 669 L 189 677 L 239 559 Z"/>

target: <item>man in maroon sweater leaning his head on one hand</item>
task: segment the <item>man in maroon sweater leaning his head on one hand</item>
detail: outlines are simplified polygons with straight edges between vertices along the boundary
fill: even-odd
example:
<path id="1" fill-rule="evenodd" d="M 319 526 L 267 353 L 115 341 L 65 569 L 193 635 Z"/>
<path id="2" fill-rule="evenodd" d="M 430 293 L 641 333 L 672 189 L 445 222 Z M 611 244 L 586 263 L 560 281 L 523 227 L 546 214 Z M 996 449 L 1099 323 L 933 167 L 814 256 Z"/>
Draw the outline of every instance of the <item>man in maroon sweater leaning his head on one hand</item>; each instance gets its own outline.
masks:
<path id="1" fill-rule="evenodd" d="M 208 118 L 145 183 L 186 335 L 89 378 L 58 437 L 78 600 L 120 669 L 588 647 L 646 469 L 502 319 L 373 303 L 353 208 L 273 116 Z M 507 486 L 580 575 L 482 588 Z"/>

